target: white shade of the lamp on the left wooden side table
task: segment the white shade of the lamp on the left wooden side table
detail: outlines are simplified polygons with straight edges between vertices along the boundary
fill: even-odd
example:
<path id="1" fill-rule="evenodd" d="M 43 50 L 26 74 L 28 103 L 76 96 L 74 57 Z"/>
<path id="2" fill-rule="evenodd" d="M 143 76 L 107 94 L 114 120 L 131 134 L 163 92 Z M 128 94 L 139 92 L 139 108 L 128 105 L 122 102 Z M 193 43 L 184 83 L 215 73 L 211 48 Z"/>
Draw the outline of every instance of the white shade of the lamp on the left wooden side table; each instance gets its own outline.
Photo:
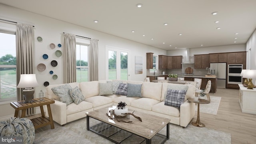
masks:
<path id="1" fill-rule="evenodd" d="M 36 80 L 36 74 L 21 74 L 20 82 L 17 88 L 32 88 L 39 86 Z"/>

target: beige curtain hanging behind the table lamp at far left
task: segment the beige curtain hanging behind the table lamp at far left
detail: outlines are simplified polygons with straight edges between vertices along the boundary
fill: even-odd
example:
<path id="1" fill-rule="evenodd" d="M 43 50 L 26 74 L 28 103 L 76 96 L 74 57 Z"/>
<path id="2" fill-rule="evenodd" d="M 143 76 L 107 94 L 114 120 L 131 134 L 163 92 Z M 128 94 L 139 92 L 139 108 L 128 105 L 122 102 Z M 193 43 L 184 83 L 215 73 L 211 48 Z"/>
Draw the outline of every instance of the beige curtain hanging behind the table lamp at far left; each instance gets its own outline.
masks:
<path id="1" fill-rule="evenodd" d="M 16 28 L 16 74 L 17 84 L 21 74 L 34 74 L 34 28 L 27 24 L 17 24 Z M 23 88 L 17 88 L 18 101 L 24 100 Z M 34 108 L 27 109 L 27 115 L 35 113 Z"/>

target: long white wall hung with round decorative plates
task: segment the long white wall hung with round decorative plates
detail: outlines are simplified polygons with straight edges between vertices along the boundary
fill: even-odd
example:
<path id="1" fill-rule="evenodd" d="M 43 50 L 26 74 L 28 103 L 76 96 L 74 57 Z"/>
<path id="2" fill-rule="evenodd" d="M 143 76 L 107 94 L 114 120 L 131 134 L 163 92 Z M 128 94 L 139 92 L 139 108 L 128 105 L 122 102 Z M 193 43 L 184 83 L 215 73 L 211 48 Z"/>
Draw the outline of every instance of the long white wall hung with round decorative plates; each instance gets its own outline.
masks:
<path id="1" fill-rule="evenodd" d="M 56 50 L 61 50 L 58 48 L 58 44 L 63 46 L 63 32 L 76 34 L 78 36 L 84 36 L 88 38 L 98 39 L 99 48 L 99 80 L 105 80 L 105 47 L 112 46 L 115 48 L 121 48 L 130 50 L 130 80 L 144 80 L 146 77 L 146 52 L 154 52 L 154 54 L 164 54 L 166 55 L 166 50 L 159 48 L 154 48 L 145 44 L 140 44 L 138 42 L 130 41 L 117 36 L 112 36 L 103 32 L 98 32 L 96 30 L 91 30 L 89 28 L 84 28 L 25 10 L 20 10 L 10 6 L 0 4 L 0 18 L 5 20 L 12 20 L 15 22 L 21 22 L 25 24 L 30 24 L 35 26 L 35 73 L 36 78 L 40 86 L 35 88 L 35 95 L 38 97 L 40 90 L 46 92 L 43 83 L 48 81 L 50 84 L 61 84 L 63 83 L 62 74 L 62 56 L 57 57 L 55 55 Z M 0 22 L 0 27 L 5 27 L 6 24 Z M 38 42 L 36 38 L 41 36 L 43 38 L 42 42 Z M 54 43 L 56 48 L 51 49 L 50 44 Z M 63 52 L 62 52 L 63 53 Z M 42 58 L 43 54 L 48 54 L 49 58 L 44 60 Z M 142 56 L 143 58 L 143 74 L 135 74 L 135 56 Z M 50 62 L 56 60 L 58 66 L 52 67 Z M 37 70 L 37 65 L 43 63 L 46 65 L 46 70 L 40 72 Z M 58 75 L 58 79 L 53 80 L 52 75 L 49 71 L 53 70 L 54 74 Z M 8 111 L 3 111 L 3 110 Z M 14 115 L 14 109 L 11 108 L 10 103 L 0 105 L 0 118 L 3 116 Z"/>

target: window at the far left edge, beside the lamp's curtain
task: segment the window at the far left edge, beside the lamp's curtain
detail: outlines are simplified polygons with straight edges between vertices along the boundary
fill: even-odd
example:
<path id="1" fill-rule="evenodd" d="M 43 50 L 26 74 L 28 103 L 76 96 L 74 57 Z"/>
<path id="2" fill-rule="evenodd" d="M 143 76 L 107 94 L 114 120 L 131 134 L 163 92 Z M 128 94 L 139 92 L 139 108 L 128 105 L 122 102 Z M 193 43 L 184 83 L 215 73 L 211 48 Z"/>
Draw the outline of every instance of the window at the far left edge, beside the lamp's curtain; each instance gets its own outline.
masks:
<path id="1" fill-rule="evenodd" d="M 16 35 L 0 30 L 0 102 L 17 100 Z"/>

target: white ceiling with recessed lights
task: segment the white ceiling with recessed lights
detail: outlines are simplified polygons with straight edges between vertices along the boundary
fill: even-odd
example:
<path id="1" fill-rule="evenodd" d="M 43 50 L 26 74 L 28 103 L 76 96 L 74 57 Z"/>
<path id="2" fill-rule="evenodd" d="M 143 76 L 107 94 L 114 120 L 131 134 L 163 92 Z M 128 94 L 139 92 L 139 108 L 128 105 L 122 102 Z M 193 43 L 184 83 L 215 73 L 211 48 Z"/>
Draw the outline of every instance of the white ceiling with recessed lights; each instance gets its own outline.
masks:
<path id="1" fill-rule="evenodd" d="M 164 50 L 245 44 L 256 28 L 256 0 L 0 0 L 0 3 Z M 136 4 L 143 6 L 137 8 Z M 217 15 L 211 14 L 216 11 Z"/>

